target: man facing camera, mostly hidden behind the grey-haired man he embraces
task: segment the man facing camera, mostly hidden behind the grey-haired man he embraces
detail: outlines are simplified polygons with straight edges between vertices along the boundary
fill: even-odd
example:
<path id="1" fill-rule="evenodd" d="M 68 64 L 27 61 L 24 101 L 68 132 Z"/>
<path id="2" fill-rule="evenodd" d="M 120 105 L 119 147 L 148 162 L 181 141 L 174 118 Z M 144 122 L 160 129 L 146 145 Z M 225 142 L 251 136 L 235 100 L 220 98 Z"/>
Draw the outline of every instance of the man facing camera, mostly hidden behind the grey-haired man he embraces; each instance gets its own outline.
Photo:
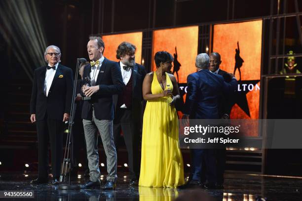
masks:
<path id="1" fill-rule="evenodd" d="M 226 82 L 230 82 L 232 77 L 226 72 L 220 69 L 221 56 L 218 52 L 212 52 L 210 54 L 210 67 L 209 70 L 212 73 L 221 75 Z M 229 119 L 229 113 L 232 108 L 232 96 L 233 94 L 227 94 L 228 96 L 222 96 L 220 100 L 220 118 Z M 217 160 L 217 187 L 223 188 L 224 183 L 224 172 L 226 167 L 226 149 L 216 149 L 216 160 Z"/>

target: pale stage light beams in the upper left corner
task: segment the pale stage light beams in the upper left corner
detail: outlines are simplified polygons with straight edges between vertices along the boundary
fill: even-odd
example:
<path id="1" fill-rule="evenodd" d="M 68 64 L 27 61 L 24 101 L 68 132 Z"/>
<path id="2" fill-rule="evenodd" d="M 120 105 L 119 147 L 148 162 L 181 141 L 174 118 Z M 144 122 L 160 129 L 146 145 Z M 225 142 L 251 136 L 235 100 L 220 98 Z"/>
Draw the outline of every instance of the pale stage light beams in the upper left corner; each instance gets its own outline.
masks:
<path id="1" fill-rule="evenodd" d="M 32 66 L 44 66 L 44 48 L 46 37 L 40 20 L 37 1 L 9 0 L 1 1 L 0 33 L 8 44 L 18 64 L 33 81 Z M 26 39 L 26 40 L 23 40 Z M 24 51 L 23 47 L 27 47 Z M 31 63 L 33 61 L 34 63 Z"/>

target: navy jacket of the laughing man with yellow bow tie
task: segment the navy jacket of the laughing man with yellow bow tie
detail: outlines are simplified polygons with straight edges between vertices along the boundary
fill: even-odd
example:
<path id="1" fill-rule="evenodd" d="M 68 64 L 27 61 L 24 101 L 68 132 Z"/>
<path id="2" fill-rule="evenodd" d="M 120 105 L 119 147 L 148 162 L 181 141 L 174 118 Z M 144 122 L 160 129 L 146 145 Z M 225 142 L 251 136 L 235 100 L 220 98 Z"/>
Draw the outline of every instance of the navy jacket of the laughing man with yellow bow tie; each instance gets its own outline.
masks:
<path id="1" fill-rule="evenodd" d="M 88 64 L 84 67 L 83 78 L 90 77 L 90 72 L 91 65 Z M 99 85 L 100 89 L 92 94 L 91 100 L 83 101 L 82 119 L 92 120 L 92 109 L 94 109 L 96 119 L 113 120 L 113 95 L 121 93 L 125 86 L 116 62 L 104 59 L 95 85 Z M 84 96 L 82 91 L 81 95 Z"/>

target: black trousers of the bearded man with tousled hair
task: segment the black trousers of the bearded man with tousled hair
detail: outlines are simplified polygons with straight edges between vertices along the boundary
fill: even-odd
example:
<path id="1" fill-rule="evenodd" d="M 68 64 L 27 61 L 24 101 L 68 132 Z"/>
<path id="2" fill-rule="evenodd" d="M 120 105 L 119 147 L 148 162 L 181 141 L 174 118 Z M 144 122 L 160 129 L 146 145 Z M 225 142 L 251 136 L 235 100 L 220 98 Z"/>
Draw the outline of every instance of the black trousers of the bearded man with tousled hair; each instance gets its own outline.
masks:
<path id="1" fill-rule="evenodd" d="M 126 149 L 128 152 L 128 167 L 130 179 L 139 179 L 140 157 L 139 157 L 139 135 L 140 123 L 134 122 L 131 109 L 118 108 L 113 121 L 113 138 L 118 151 L 118 141 L 121 131 L 123 132 Z M 118 157 L 117 157 L 118 158 Z"/>

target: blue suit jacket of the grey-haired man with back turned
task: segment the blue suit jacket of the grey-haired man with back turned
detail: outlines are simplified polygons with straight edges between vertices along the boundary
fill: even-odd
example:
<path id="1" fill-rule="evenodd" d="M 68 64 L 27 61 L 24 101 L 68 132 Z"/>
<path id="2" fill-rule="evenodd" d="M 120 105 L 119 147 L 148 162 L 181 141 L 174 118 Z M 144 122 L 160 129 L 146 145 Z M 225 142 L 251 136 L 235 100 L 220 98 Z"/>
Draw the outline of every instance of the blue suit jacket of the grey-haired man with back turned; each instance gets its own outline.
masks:
<path id="1" fill-rule="evenodd" d="M 194 119 L 220 119 L 222 96 L 234 91 L 237 80 L 229 83 L 220 75 L 209 70 L 200 70 L 187 78 L 185 114 Z"/>

